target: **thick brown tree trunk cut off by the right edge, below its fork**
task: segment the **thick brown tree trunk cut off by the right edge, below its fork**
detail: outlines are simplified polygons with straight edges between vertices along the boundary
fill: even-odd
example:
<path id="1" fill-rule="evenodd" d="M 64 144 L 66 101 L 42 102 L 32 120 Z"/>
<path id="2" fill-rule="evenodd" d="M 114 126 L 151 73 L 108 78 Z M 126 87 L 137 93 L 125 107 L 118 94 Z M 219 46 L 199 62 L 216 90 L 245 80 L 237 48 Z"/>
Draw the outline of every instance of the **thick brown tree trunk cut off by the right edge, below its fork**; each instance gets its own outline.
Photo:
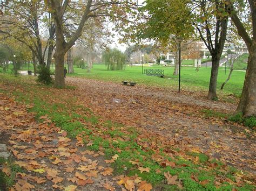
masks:
<path id="1" fill-rule="evenodd" d="M 237 112 L 242 112 L 244 116 L 256 116 L 256 38 L 252 42 L 249 54 L 244 87 Z"/>

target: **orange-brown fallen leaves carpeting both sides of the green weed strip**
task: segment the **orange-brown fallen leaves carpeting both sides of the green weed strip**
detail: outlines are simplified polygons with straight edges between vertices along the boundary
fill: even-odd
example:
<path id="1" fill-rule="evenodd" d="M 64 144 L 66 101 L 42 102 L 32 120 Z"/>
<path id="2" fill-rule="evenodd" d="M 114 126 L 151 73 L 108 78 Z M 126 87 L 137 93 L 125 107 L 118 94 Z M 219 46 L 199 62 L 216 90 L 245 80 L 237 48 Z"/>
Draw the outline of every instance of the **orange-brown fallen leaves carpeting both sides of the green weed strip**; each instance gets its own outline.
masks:
<path id="1" fill-rule="evenodd" d="M 248 138 L 245 133 L 250 130 L 244 126 L 215 118 L 205 119 L 200 112 L 201 109 L 232 112 L 235 105 L 231 103 L 207 101 L 204 95 L 187 91 L 178 95 L 171 90 L 70 77 L 67 83 L 77 88 L 52 89 L 63 102 L 76 97 L 78 103 L 105 119 L 135 126 L 140 131 L 138 144 L 142 147 L 157 147 L 158 142 L 177 145 L 181 152 L 171 150 L 170 155 L 183 155 L 185 150 L 200 151 L 244 171 L 256 171 L 255 134 L 251 133 Z M 3 89 L 11 89 L 6 84 L 1 85 L 5 86 Z M 15 88 L 22 91 L 22 86 Z M 150 183 L 137 175 L 113 177 L 110 164 L 118 155 L 105 160 L 103 150 L 86 150 L 81 138 L 66 137 L 66 132 L 56 127 L 48 116 L 41 117 L 42 123 L 36 122 L 35 115 L 27 111 L 30 107 L 0 93 L 0 143 L 7 140 L 9 150 L 17 159 L 15 164 L 26 169 L 16 174 L 16 183 L 11 189 L 152 189 Z M 145 137 L 155 140 L 140 143 L 139 140 Z M 154 159 L 161 160 L 159 155 Z M 136 161 L 131 162 L 136 164 Z M 175 165 L 169 163 L 164 161 L 166 166 Z M 138 169 L 150 171 L 143 167 Z M 7 166 L 2 171 L 10 173 Z M 164 176 L 169 185 L 182 188 L 176 176 L 169 173 Z"/>

